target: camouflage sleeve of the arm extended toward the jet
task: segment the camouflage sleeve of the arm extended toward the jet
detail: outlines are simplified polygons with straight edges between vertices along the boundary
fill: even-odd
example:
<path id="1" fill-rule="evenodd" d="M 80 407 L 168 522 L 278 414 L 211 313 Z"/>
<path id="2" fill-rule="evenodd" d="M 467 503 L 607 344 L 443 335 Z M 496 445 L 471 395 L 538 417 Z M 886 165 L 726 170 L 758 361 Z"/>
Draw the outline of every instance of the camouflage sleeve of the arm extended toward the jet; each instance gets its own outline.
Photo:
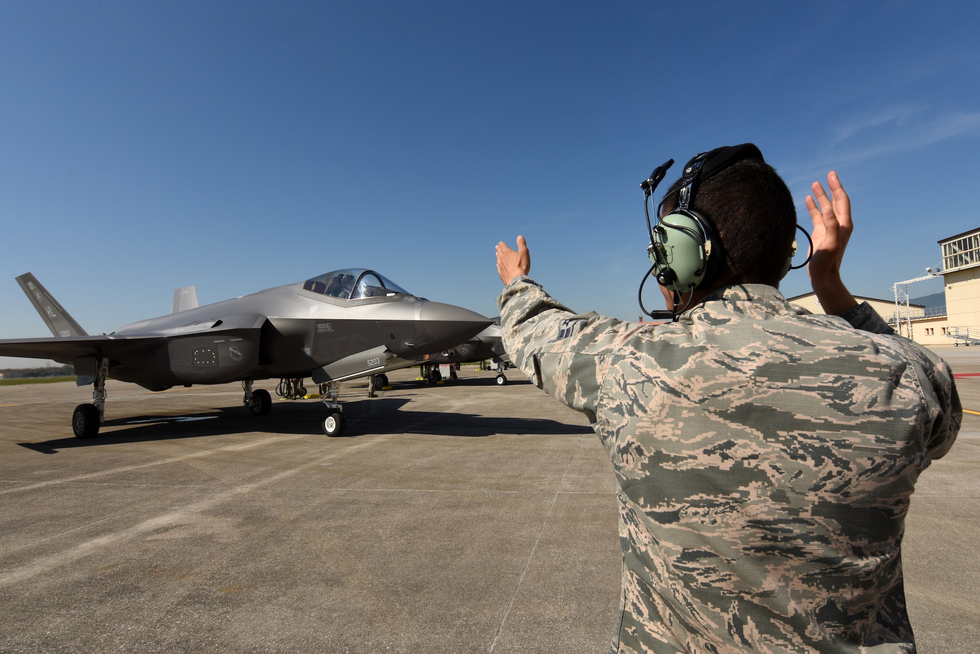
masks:
<path id="1" fill-rule="evenodd" d="M 528 277 L 518 276 L 497 298 L 504 347 L 540 389 L 595 422 L 596 404 L 613 355 L 645 327 L 576 314 Z"/>

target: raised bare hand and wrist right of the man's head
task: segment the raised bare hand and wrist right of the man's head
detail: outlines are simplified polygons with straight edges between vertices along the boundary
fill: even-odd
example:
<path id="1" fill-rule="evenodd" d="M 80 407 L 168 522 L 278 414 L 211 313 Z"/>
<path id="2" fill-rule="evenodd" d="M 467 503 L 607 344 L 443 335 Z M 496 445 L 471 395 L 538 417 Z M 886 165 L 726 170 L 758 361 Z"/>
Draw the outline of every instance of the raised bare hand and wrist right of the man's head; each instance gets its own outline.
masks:
<path id="1" fill-rule="evenodd" d="M 813 221 L 813 257 L 807 271 L 820 306 L 827 313 L 839 314 L 858 304 L 841 280 L 841 262 L 854 222 L 851 199 L 836 171 L 827 173 L 827 186 L 833 200 L 827 197 L 820 182 L 813 182 L 813 195 L 807 196 L 807 210 Z"/>

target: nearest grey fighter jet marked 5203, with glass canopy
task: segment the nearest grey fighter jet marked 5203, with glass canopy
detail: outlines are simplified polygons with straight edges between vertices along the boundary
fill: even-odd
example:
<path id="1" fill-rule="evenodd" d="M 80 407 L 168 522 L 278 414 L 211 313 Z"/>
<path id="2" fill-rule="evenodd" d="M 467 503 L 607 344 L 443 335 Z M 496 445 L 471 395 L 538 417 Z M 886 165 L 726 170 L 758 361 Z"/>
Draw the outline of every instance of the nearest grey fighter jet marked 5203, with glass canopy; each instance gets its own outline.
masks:
<path id="1" fill-rule="evenodd" d="M 50 358 L 74 365 L 78 386 L 93 385 L 72 430 L 98 434 L 106 377 L 150 391 L 241 381 L 243 403 L 269 413 L 256 380 L 311 377 L 325 385 L 323 432 L 340 436 L 340 382 L 417 365 L 428 352 L 452 348 L 491 320 L 460 306 L 417 298 L 366 268 L 345 268 L 304 282 L 198 306 L 193 287 L 177 289 L 170 315 L 89 336 L 29 272 L 16 278 L 54 338 L 0 340 L 0 355 Z"/>

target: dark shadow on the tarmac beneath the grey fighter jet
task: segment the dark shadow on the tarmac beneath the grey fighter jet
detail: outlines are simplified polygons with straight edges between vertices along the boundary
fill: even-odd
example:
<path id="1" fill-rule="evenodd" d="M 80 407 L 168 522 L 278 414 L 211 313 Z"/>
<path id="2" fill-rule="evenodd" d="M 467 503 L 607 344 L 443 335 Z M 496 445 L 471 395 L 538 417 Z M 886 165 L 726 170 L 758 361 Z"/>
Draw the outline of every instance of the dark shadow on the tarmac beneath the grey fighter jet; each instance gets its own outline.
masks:
<path id="1" fill-rule="evenodd" d="M 491 380 L 492 381 L 492 380 Z M 591 427 L 569 425 L 544 418 L 482 416 L 446 411 L 401 410 L 411 399 L 376 397 L 344 402 L 347 433 L 343 438 L 365 434 L 427 434 L 433 436 L 484 437 L 498 434 L 555 435 L 591 434 Z M 207 436 L 245 434 L 300 434 L 322 436 L 319 425 L 325 411 L 319 402 L 277 403 L 272 413 L 252 416 L 243 406 L 173 416 L 135 415 L 107 420 L 94 439 L 54 439 L 40 443 L 19 443 L 42 454 L 59 450 L 148 441 L 173 441 Z"/>

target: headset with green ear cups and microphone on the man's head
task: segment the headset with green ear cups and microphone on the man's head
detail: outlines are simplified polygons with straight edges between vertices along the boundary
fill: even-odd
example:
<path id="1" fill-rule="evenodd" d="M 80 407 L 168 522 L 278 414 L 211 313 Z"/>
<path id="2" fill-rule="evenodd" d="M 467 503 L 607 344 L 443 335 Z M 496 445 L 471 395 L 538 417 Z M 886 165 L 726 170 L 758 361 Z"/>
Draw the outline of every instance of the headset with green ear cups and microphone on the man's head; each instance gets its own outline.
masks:
<path id="1" fill-rule="evenodd" d="M 647 231 L 650 234 L 647 255 L 650 257 L 652 265 L 647 274 L 644 275 L 643 281 L 640 282 L 639 300 L 643 312 L 655 320 L 668 318 L 676 321 L 680 314 L 687 310 L 694 298 L 693 293 L 689 295 L 687 304 L 678 310 L 681 295 L 711 285 L 724 268 L 724 248 L 717 230 L 711 220 L 691 209 L 691 203 L 698 185 L 702 181 L 735 163 L 747 159 L 765 162 L 759 148 L 752 143 L 716 148 L 711 152 L 703 152 L 694 157 L 684 165 L 677 189 L 664 195 L 657 206 L 656 225 L 651 225 L 650 221 L 650 199 L 663 180 L 667 169 L 673 165 L 673 160 L 668 160 L 654 168 L 650 177 L 640 184 L 640 188 L 643 189 L 643 209 L 647 214 Z M 661 215 L 663 203 L 673 193 L 678 194 L 677 209 L 671 210 L 666 215 Z M 807 260 L 800 265 L 793 265 L 793 257 L 797 252 L 797 243 L 794 240 L 790 256 L 787 257 L 780 274 L 780 279 L 785 277 L 790 270 L 796 270 L 807 265 L 810 257 L 812 257 L 813 241 L 810 239 L 809 233 L 799 224 L 797 229 L 803 231 L 807 236 L 810 244 L 809 255 Z M 670 310 L 648 311 L 643 305 L 643 286 L 651 275 L 657 279 L 663 288 L 670 291 L 673 303 Z"/>

